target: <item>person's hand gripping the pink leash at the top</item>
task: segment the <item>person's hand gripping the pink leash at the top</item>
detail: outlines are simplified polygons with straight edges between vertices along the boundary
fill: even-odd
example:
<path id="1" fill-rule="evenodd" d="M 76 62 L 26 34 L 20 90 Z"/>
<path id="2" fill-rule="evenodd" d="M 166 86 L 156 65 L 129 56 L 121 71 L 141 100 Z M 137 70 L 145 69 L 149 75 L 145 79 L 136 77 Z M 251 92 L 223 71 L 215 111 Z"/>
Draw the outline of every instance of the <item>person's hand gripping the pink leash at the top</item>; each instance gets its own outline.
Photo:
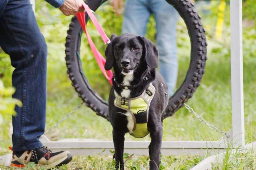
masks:
<path id="1" fill-rule="evenodd" d="M 79 12 L 86 12 L 83 4 L 86 5 L 83 0 L 65 0 L 59 9 L 64 15 L 69 16 Z"/>

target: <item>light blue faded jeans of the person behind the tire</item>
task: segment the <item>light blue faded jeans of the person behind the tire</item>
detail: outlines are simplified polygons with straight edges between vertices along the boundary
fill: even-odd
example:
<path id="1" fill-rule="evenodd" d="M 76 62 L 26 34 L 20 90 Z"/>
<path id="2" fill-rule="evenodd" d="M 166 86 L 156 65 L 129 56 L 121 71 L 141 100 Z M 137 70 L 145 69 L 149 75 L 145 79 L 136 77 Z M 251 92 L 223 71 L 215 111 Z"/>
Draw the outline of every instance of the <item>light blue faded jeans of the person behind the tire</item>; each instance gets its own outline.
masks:
<path id="1" fill-rule="evenodd" d="M 145 36 L 151 14 L 156 22 L 156 41 L 160 55 L 159 71 L 174 93 L 178 74 L 176 26 L 178 12 L 165 0 L 126 0 L 122 33 Z"/>

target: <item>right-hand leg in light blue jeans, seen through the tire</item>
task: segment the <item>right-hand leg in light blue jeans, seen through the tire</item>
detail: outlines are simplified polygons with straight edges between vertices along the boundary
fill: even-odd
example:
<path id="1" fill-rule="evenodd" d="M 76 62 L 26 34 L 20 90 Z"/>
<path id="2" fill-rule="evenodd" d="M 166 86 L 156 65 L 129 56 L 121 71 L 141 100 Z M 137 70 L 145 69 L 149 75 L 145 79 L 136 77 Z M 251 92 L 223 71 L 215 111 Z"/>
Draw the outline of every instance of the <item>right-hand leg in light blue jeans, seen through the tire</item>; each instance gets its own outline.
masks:
<path id="1" fill-rule="evenodd" d="M 169 97 L 173 95 L 178 74 L 176 26 L 178 12 L 165 0 L 151 0 L 156 21 L 156 41 L 160 55 L 159 71 L 168 85 Z"/>

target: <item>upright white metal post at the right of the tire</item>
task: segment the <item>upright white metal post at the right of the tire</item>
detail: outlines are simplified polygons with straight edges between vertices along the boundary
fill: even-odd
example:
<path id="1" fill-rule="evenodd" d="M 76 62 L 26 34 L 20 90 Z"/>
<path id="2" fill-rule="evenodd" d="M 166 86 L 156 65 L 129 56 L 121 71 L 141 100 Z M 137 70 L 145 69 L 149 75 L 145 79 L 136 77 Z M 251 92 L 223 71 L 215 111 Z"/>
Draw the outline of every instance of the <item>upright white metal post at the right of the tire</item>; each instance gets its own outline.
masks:
<path id="1" fill-rule="evenodd" d="M 230 0 L 232 136 L 244 146 L 242 0 Z"/>

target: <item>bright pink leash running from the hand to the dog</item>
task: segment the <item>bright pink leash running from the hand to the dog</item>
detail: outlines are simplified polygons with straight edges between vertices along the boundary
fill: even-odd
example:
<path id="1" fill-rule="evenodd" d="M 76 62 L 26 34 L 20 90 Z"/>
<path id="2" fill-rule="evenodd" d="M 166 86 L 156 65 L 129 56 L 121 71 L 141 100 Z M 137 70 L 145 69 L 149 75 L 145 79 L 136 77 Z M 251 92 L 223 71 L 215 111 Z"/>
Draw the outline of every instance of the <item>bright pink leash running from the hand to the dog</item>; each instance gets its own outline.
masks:
<path id="1" fill-rule="evenodd" d="M 93 15 L 93 13 L 91 12 L 91 9 L 89 8 L 89 6 L 87 5 L 83 5 L 87 14 L 89 15 L 89 17 L 91 18 L 93 24 L 95 25 L 96 29 L 98 30 L 98 32 L 101 35 L 101 38 L 103 39 L 105 44 L 109 44 L 110 40 L 107 37 L 107 35 L 105 34 L 105 32 L 103 31 L 100 23 L 98 22 L 98 20 L 96 19 L 96 17 Z M 85 13 L 80 12 L 76 14 L 76 17 L 82 27 L 82 29 L 85 31 L 87 39 L 88 39 L 88 43 L 91 47 L 92 53 L 101 69 L 101 72 L 104 74 L 104 76 L 106 77 L 106 79 L 109 81 L 109 83 L 112 85 L 112 77 L 113 77 L 113 73 L 111 70 L 108 70 L 106 72 L 104 66 L 106 63 L 105 58 L 101 55 L 101 53 L 97 50 L 96 46 L 94 45 L 89 33 L 86 30 L 86 23 L 85 23 Z"/>

